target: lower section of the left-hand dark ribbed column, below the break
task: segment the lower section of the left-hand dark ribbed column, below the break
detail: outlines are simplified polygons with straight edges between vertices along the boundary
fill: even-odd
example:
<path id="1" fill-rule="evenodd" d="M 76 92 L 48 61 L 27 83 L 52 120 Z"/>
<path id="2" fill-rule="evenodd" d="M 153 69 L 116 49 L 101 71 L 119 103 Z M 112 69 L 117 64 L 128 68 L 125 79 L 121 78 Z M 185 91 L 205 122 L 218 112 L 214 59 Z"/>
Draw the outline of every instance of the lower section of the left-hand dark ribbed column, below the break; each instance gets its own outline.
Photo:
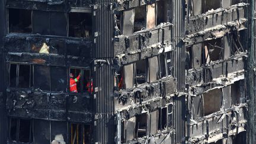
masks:
<path id="1" fill-rule="evenodd" d="M 114 71 L 110 65 L 97 65 L 93 77 L 95 88 L 98 88 L 98 92 L 95 92 L 95 110 L 101 116 L 97 120 L 95 140 L 100 143 L 114 143 Z"/>

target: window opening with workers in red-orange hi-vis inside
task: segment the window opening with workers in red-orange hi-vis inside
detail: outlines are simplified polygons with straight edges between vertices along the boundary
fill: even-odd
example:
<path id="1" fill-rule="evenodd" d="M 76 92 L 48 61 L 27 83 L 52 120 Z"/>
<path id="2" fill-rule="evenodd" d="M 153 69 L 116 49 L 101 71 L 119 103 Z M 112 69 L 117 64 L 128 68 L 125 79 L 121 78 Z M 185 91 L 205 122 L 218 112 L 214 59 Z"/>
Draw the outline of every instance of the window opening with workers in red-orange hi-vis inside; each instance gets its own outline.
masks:
<path id="1" fill-rule="evenodd" d="M 70 69 L 69 92 L 93 91 L 92 77 L 89 69 Z"/>

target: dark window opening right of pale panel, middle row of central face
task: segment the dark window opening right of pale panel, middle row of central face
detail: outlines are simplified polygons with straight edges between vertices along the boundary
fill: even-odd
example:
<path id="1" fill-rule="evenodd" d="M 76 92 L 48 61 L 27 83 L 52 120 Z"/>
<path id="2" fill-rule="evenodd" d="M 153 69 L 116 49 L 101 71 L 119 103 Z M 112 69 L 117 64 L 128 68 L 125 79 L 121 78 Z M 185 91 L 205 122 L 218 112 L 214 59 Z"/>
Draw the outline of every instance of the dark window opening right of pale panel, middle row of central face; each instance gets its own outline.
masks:
<path id="1" fill-rule="evenodd" d="M 136 61 L 136 82 L 143 84 L 148 79 L 148 59 Z"/>

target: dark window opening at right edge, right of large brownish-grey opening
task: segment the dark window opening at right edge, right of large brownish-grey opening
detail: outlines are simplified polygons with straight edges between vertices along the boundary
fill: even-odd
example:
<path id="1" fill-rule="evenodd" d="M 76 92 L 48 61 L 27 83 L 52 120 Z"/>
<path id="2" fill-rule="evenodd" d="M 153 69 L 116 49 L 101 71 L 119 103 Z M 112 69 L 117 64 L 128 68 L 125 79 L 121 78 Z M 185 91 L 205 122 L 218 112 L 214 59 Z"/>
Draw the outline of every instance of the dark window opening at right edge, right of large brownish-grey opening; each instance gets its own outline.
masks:
<path id="1" fill-rule="evenodd" d="M 231 104 L 236 105 L 242 103 L 241 98 L 244 97 L 244 81 L 236 81 L 231 85 Z"/>

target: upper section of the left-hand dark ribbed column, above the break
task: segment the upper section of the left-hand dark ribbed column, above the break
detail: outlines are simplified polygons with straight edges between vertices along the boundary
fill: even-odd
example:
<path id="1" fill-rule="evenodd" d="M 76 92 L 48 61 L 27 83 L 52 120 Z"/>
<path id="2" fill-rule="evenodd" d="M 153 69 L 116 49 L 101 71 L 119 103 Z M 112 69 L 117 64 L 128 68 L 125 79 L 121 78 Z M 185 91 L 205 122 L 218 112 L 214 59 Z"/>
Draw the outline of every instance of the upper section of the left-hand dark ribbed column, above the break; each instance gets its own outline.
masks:
<path id="1" fill-rule="evenodd" d="M 100 8 L 96 9 L 94 17 L 95 32 L 95 49 L 93 57 L 113 57 L 114 56 L 114 14 L 111 3 L 100 4 Z"/>

